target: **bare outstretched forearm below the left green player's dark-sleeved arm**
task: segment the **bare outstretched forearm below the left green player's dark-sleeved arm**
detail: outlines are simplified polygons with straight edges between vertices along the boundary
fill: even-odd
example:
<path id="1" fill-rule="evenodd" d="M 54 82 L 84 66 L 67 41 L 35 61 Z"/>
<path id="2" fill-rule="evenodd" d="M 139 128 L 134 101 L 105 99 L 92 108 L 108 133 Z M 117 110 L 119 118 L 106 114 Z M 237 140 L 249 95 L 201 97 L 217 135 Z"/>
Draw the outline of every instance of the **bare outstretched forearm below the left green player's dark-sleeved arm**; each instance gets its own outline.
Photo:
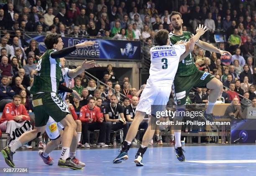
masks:
<path id="1" fill-rule="evenodd" d="M 78 66 L 76 69 L 70 69 L 68 74 L 69 77 L 74 78 L 77 75 L 81 74 L 85 69 L 90 69 L 93 67 L 98 67 L 94 60 L 88 61 L 85 59 L 81 66 Z"/>

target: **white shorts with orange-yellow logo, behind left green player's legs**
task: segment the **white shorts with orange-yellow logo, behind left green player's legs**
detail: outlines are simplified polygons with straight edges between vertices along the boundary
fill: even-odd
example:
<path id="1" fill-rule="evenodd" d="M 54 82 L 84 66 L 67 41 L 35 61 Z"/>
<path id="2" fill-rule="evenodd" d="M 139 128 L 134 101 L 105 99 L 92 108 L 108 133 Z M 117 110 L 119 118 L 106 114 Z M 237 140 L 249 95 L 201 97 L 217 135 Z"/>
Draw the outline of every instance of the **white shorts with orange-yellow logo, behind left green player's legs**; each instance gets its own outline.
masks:
<path id="1" fill-rule="evenodd" d="M 46 124 L 46 133 L 51 140 L 58 139 L 60 137 L 60 130 L 64 129 L 64 126 L 60 122 L 54 121 L 54 119 L 50 116 L 49 120 Z"/>

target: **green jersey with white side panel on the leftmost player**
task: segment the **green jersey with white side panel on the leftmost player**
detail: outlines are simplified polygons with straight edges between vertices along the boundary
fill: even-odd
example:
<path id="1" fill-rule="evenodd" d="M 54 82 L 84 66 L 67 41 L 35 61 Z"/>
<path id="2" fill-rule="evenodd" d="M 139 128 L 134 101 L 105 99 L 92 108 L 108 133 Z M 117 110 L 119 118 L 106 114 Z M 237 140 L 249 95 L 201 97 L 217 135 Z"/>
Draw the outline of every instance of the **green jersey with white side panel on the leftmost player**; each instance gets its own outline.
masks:
<path id="1" fill-rule="evenodd" d="M 51 53 L 56 50 L 46 50 L 36 65 L 37 75 L 34 77 L 32 94 L 38 92 L 58 92 L 61 77 L 61 63 L 59 58 L 52 58 Z"/>

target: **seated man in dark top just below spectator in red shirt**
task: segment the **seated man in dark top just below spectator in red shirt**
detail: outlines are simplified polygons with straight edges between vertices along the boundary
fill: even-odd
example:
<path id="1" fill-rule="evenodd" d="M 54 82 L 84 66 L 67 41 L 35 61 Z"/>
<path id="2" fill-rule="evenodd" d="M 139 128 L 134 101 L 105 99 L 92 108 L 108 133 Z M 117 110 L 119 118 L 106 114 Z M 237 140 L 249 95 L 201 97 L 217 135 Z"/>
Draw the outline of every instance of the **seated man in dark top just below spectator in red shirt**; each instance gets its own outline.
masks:
<path id="1" fill-rule="evenodd" d="M 224 117 L 230 119 L 241 119 L 242 118 L 242 111 L 241 106 L 239 104 L 239 99 L 234 98 L 231 104 L 227 107 Z"/>

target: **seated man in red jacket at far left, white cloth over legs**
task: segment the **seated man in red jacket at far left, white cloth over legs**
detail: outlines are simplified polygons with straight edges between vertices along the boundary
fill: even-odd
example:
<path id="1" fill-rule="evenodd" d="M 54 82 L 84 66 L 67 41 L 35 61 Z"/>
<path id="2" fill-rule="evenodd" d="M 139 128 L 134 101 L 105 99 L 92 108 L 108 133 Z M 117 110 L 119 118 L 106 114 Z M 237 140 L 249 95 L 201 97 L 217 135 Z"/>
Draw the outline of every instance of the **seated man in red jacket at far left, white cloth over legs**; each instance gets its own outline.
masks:
<path id="1" fill-rule="evenodd" d="M 15 139 L 26 131 L 31 130 L 30 117 L 19 95 L 13 96 L 13 102 L 5 105 L 3 115 L 0 120 L 0 129 L 10 135 L 8 144 L 12 144 Z M 18 131 L 18 132 L 17 132 Z M 32 149 L 31 146 L 24 144 L 23 149 Z"/>

